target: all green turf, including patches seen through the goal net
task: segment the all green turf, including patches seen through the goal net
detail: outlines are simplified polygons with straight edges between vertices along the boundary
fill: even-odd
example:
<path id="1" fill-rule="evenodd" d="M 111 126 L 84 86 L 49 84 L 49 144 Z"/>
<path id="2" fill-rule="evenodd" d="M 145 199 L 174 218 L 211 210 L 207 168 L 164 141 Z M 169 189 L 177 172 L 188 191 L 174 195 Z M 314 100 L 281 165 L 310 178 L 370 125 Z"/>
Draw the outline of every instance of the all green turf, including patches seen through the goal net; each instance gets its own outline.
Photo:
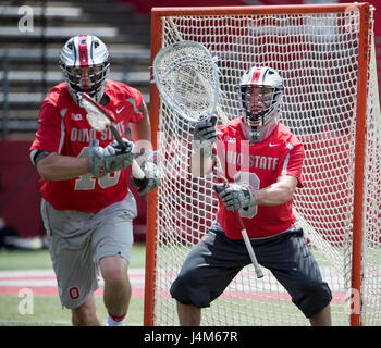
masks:
<path id="1" fill-rule="evenodd" d="M 130 269 L 140 269 L 145 268 L 145 244 L 135 244 L 132 251 L 132 259 Z M 173 252 L 173 251 L 172 251 Z M 319 259 L 322 259 L 319 256 Z M 322 266 L 327 266 L 327 263 L 322 261 Z M 47 250 L 39 251 L 0 251 L 0 272 L 1 271 L 28 271 L 28 270 L 52 270 L 50 256 Z M 140 273 L 142 274 L 142 273 Z M 158 300 L 158 299 L 157 299 Z M 71 325 L 71 311 L 67 309 L 62 309 L 58 295 L 42 296 L 34 295 L 33 297 L 33 313 L 32 314 L 21 314 L 19 307 L 22 301 L 22 298 L 14 295 L 3 295 L 0 293 L 0 326 L 69 326 Z M 174 309 L 174 303 L 172 299 L 164 298 L 162 299 L 163 303 L 159 303 L 159 307 L 168 307 Z M 102 303 L 101 297 L 96 297 L 97 311 L 98 315 L 101 319 L 102 323 L 106 322 L 107 312 Z M 159 300 L 160 302 L 160 300 Z M 213 308 L 217 306 L 222 307 L 221 313 L 224 313 L 224 308 L 230 308 L 229 300 L 222 300 L 217 304 L 213 304 Z M 221 323 L 219 323 L 219 318 L 217 319 L 216 312 L 210 312 L 211 308 L 206 310 L 204 318 L 204 325 L 242 325 L 242 322 L 246 323 L 246 319 L 242 320 L 242 312 L 239 307 L 251 306 L 247 301 L 235 301 L 236 310 L 233 312 L 222 315 Z M 258 318 L 253 318 L 254 325 L 263 325 L 260 313 L 266 313 L 266 304 L 268 302 L 257 301 L 258 308 L 257 311 L 259 314 Z M 282 312 L 293 313 L 295 322 L 291 325 L 308 325 L 308 322 L 305 318 L 302 316 L 299 311 L 296 310 L 294 304 L 286 300 L 275 303 L 278 307 L 282 307 Z M 335 326 L 348 325 L 348 316 L 343 310 L 343 303 L 333 301 L 332 307 L 332 323 Z M 209 316 L 210 321 L 209 321 Z M 276 326 L 280 325 L 282 321 L 279 321 L 279 318 L 270 318 L 271 313 L 267 313 L 270 325 Z M 231 322 L 229 322 L 231 320 Z M 127 314 L 127 325 L 131 326 L 143 326 L 144 323 L 144 298 L 132 297 L 130 303 L 130 310 Z M 283 323 L 283 322 L 282 322 Z M 174 325 L 179 323 L 175 321 Z M 282 324 L 281 324 L 282 325 Z"/>

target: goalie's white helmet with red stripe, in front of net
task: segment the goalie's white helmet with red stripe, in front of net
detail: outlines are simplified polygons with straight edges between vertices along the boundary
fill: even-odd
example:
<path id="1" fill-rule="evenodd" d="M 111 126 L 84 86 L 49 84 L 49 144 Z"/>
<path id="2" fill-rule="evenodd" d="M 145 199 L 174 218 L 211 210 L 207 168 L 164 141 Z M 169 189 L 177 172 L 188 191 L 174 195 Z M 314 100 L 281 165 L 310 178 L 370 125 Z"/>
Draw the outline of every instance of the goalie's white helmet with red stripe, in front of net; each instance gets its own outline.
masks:
<path id="1" fill-rule="evenodd" d="M 261 88 L 259 92 L 255 94 L 255 87 Z M 282 77 L 273 69 L 253 66 L 246 71 L 239 80 L 239 99 L 247 124 L 259 127 L 275 117 L 282 92 Z"/>

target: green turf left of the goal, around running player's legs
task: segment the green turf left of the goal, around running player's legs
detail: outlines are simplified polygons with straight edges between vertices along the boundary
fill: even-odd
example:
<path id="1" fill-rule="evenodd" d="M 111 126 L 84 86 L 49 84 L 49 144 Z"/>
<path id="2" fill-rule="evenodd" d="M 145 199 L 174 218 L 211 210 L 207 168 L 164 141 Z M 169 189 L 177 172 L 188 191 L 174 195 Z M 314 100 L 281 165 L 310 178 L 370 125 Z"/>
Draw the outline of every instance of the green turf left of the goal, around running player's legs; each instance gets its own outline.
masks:
<path id="1" fill-rule="evenodd" d="M 145 244 L 135 244 L 130 268 L 144 269 Z M 47 250 L 38 251 L 0 251 L 0 271 L 51 270 Z M 0 326 L 59 326 L 71 325 L 71 311 L 62 309 L 58 296 L 33 296 L 33 314 L 21 314 L 19 306 L 23 298 L 15 295 L 0 294 Z M 105 323 L 107 312 L 102 298 L 97 297 L 97 311 Z M 126 320 L 127 325 L 142 326 L 144 299 L 132 298 Z"/>

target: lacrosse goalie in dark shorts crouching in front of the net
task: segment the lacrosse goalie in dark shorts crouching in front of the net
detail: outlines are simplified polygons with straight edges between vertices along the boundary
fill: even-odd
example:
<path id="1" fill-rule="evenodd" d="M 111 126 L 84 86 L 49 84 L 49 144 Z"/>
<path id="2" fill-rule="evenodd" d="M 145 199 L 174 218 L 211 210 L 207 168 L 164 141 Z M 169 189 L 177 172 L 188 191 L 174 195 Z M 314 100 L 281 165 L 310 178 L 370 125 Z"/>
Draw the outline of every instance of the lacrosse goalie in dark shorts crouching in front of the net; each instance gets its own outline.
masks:
<path id="1" fill-rule="evenodd" d="M 258 262 L 285 287 L 311 325 L 331 325 L 331 290 L 292 212 L 293 194 L 303 187 L 304 148 L 278 121 L 283 80 L 270 67 L 254 66 L 237 87 L 243 116 L 217 127 L 212 117 L 194 130 L 193 173 L 200 171 L 200 153 L 206 158 L 204 171 L 212 170 L 217 145 L 229 185 L 214 187 L 220 201 L 217 220 L 171 286 L 180 324 L 200 325 L 201 308 L 250 263 L 233 214 L 238 210 Z"/>

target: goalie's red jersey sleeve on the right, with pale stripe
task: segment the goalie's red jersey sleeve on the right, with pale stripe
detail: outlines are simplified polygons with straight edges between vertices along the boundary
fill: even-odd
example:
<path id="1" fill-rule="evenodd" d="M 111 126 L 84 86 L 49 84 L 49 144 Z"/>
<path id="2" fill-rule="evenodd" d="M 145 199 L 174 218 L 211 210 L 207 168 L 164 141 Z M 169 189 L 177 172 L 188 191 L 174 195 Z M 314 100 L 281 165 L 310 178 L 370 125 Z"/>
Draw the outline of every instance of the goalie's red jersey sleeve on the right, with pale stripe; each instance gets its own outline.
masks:
<path id="1" fill-rule="evenodd" d="M 297 187 L 303 187 L 303 160 L 304 160 L 304 147 L 302 142 L 297 142 L 295 145 L 291 145 L 287 142 L 286 145 L 288 151 L 285 152 L 282 158 L 283 163 L 279 166 L 280 175 L 292 175 L 295 176 L 298 181 Z"/>

